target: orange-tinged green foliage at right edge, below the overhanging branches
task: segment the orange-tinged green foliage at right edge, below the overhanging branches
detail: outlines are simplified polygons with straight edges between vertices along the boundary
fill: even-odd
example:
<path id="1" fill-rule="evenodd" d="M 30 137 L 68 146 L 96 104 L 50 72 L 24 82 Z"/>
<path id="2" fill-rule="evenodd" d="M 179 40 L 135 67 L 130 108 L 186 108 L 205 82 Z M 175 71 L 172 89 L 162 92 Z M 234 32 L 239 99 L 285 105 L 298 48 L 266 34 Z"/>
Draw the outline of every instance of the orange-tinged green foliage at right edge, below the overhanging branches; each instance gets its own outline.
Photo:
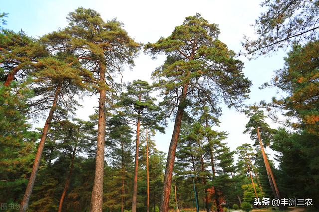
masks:
<path id="1" fill-rule="evenodd" d="M 271 84 L 265 84 L 274 85 L 287 94 L 281 99 L 274 97 L 267 106 L 284 110 L 289 119 L 298 119 L 297 123 L 287 120 L 291 126 L 306 129 L 316 135 L 319 135 L 318 51 L 319 41 L 310 42 L 303 47 L 296 45 L 285 58 L 284 68 L 276 71 Z"/>

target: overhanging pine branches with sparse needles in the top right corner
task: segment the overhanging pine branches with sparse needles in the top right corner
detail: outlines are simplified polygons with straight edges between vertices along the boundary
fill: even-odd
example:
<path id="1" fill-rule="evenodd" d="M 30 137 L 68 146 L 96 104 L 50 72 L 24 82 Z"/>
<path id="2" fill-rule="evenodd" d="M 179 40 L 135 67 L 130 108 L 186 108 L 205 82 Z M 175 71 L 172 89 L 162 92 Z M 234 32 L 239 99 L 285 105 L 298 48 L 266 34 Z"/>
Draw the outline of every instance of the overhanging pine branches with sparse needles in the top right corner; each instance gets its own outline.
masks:
<path id="1" fill-rule="evenodd" d="M 257 39 L 245 36 L 247 53 L 263 55 L 280 48 L 318 40 L 318 0 L 263 0 L 255 22 Z"/>

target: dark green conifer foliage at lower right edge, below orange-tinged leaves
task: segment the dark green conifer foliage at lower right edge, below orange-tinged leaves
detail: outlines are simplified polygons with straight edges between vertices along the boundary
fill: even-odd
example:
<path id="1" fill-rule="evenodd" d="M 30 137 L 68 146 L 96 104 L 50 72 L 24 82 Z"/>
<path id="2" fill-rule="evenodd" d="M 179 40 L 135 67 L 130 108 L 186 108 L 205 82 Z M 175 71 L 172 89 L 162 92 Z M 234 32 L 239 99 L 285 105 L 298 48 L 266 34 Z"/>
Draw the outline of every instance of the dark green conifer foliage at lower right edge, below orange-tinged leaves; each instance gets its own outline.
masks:
<path id="1" fill-rule="evenodd" d="M 289 132 L 281 128 L 274 136 L 273 149 L 280 153 L 278 186 L 283 195 L 312 197 L 318 208 L 318 137 L 305 131 Z"/>

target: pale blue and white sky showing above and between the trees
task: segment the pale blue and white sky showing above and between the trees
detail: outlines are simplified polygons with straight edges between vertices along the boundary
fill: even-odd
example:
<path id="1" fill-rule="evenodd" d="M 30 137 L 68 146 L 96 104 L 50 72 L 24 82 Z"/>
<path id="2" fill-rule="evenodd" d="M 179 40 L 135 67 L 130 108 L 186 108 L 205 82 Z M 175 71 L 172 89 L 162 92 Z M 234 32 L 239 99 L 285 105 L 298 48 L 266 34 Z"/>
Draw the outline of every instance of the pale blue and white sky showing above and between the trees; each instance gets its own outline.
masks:
<path id="1" fill-rule="evenodd" d="M 67 14 L 82 6 L 95 9 L 104 20 L 117 18 L 122 21 L 129 35 L 142 43 L 155 42 L 161 36 L 169 36 L 175 26 L 182 24 L 186 16 L 200 13 L 210 23 L 219 24 L 219 39 L 235 52 L 242 48 L 243 34 L 255 36 L 250 25 L 261 12 L 258 0 L 0 0 L 0 3 L 0 12 L 9 13 L 5 28 L 14 31 L 22 29 L 33 37 L 65 27 Z M 258 87 L 271 80 L 274 70 L 283 67 L 284 56 L 284 52 L 278 52 L 251 61 L 240 57 L 245 63 L 243 71 L 253 83 L 250 99 L 246 104 L 260 100 L 269 101 L 271 97 L 280 95 L 275 89 L 260 90 Z M 150 56 L 141 53 L 135 60 L 136 66 L 133 70 L 125 71 L 124 81 L 143 79 L 151 82 L 151 72 L 160 66 L 164 59 L 164 56 L 159 56 L 152 60 Z M 93 113 L 92 107 L 98 105 L 97 98 L 85 98 L 82 105 L 84 107 L 78 110 L 77 115 L 87 119 Z M 252 143 L 248 135 L 242 134 L 247 118 L 234 109 L 228 109 L 224 104 L 221 104 L 221 107 L 223 115 L 218 130 L 229 133 L 226 142 L 231 150 L 243 143 Z M 267 121 L 272 127 L 279 126 Z M 39 126 L 42 122 L 39 122 Z M 168 151 L 172 126 L 170 123 L 165 134 L 157 133 L 154 138 L 160 151 Z"/>

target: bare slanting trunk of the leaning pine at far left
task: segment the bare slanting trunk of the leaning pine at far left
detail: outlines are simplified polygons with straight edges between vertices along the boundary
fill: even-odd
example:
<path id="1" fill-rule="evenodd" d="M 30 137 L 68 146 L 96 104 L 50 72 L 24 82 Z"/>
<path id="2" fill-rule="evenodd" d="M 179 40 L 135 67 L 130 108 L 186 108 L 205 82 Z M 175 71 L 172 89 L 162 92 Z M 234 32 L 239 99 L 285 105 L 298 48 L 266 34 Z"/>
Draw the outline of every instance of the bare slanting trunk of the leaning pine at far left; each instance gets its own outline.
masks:
<path id="1" fill-rule="evenodd" d="M 60 92 L 61 92 L 61 87 L 62 87 L 62 82 L 60 82 L 58 84 L 58 86 L 55 90 L 52 107 L 50 109 L 49 115 L 48 115 L 48 117 L 45 121 L 44 127 L 43 127 L 43 132 L 42 132 L 41 140 L 39 143 L 38 151 L 37 151 L 35 159 L 34 159 L 34 164 L 33 164 L 32 171 L 31 171 L 31 176 L 29 178 L 29 182 L 28 182 L 28 185 L 26 187 L 26 190 L 25 190 L 25 193 L 23 196 L 23 200 L 21 202 L 20 212 L 25 212 L 26 209 L 28 208 L 28 205 L 29 205 L 30 196 L 31 196 L 31 193 L 33 190 L 36 174 L 37 174 L 38 169 L 39 169 L 40 160 L 41 160 L 42 152 L 44 149 L 44 143 L 45 143 L 45 140 L 46 140 L 49 128 L 50 128 L 50 124 L 51 124 L 51 121 L 53 118 L 54 111 L 56 109 L 58 97 L 59 97 Z"/>

